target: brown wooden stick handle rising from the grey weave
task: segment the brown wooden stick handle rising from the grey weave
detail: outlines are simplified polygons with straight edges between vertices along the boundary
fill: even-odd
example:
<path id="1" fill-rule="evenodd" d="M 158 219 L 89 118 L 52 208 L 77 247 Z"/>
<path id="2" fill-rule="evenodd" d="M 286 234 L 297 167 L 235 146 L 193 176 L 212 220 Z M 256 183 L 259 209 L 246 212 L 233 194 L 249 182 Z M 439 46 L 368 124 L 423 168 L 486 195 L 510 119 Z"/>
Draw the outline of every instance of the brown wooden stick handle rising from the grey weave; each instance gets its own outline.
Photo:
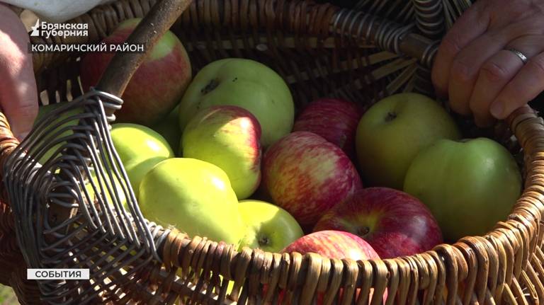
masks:
<path id="1" fill-rule="evenodd" d="M 96 89 L 115 96 L 123 96 L 132 74 L 140 67 L 159 38 L 190 4 L 191 0 L 162 0 L 155 4 L 126 41 L 128 44 L 143 43 L 145 53 L 116 53 L 96 85 Z M 113 113 L 113 110 L 111 112 Z M 107 114 L 111 115 L 111 113 Z"/>

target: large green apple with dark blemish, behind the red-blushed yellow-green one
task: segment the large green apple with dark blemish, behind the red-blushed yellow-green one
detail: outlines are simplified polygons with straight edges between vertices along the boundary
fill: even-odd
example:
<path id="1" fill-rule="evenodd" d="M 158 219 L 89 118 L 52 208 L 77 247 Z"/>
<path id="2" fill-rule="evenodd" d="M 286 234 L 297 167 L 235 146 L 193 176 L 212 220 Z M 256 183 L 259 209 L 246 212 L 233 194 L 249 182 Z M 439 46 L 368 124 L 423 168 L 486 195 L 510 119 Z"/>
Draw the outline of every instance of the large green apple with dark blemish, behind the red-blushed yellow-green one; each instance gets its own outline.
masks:
<path id="1" fill-rule="evenodd" d="M 179 105 L 181 130 L 198 110 L 211 105 L 249 110 L 261 124 L 265 147 L 293 129 L 295 105 L 289 87 L 276 71 L 250 59 L 217 60 L 198 72 Z"/>

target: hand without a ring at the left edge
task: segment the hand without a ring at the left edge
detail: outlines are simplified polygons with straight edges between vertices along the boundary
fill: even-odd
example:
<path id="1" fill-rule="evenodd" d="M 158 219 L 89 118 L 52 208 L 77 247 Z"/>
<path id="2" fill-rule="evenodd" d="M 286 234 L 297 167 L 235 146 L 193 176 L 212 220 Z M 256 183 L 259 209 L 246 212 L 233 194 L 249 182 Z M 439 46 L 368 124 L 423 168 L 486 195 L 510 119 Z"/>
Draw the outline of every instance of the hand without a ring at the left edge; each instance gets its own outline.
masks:
<path id="1" fill-rule="evenodd" d="M 38 92 L 21 19 L 0 4 L 0 107 L 11 130 L 22 140 L 38 114 Z"/>

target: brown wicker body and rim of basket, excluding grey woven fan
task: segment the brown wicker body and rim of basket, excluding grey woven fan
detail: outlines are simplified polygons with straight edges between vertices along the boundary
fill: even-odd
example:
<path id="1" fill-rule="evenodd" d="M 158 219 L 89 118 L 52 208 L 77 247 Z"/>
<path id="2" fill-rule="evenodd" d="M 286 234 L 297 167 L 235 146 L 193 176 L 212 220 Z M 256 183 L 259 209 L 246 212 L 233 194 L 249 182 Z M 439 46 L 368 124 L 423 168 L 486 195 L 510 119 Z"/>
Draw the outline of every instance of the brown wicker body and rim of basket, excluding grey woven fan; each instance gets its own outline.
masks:
<path id="1" fill-rule="evenodd" d="M 363 12 L 311 1 L 198 0 L 172 30 L 186 46 L 195 71 L 225 57 L 256 59 L 283 76 L 299 108 L 323 96 L 346 98 L 368 108 L 392 93 L 431 94 L 429 67 L 436 40 L 469 2 L 363 0 L 357 6 Z M 89 37 L 78 42 L 98 42 L 120 21 L 144 16 L 152 4 L 116 1 L 69 22 L 89 23 Z M 43 41 L 33 38 L 33 42 Z M 79 55 L 35 55 L 40 101 L 81 96 Z M 0 163 L 4 163 L 4 156 L 18 143 L 5 117 L 0 124 Z M 23 304 L 40 304 L 40 297 L 55 304 L 173 304 L 178 297 L 181 304 L 266 304 L 278 299 L 313 304 L 317 294 L 323 294 L 323 304 L 540 304 L 544 301 L 543 122 L 524 107 L 494 130 L 463 124 L 467 132 L 505 143 L 514 134 L 521 150 L 515 143 L 509 149 L 523 156 L 523 194 L 509 217 L 485 236 L 466 237 L 419 255 L 355 262 L 249 248 L 238 253 L 232 246 L 153 226 L 162 262 L 150 253 L 144 267 L 131 277 L 114 274 L 107 280 L 113 285 L 98 284 L 93 293 L 59 297 L 55 292 L 74 284 L 38 286 L 24 280 L 23 257 L 28 249 L 18 248 L 13 237 L 17 217 L 4 200 L 0 282 L 14 287 Z M 69 255 L 61 263 L 72 266 Z M 228 280 L 234 280 L 231 294 L 227 294 Z M 386 289 L 387 299 L 382 300 Z"/>

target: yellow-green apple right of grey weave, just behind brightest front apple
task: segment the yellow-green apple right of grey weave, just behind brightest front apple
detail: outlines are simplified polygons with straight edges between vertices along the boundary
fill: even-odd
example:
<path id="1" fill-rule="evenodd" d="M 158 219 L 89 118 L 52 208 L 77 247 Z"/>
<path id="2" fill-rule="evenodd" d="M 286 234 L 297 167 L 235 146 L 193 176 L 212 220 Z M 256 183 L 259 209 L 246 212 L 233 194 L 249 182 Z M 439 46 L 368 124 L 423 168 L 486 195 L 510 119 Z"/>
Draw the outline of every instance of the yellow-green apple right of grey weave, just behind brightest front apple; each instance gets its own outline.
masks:
<path id="1" fill-rule="evenodd" d="M 166 139 L 149 127 L 129 123 L 113 124 L 111 139 L 136 197 L 144 175 L 157 163 L 174 158 L 174 151 Z"/>

